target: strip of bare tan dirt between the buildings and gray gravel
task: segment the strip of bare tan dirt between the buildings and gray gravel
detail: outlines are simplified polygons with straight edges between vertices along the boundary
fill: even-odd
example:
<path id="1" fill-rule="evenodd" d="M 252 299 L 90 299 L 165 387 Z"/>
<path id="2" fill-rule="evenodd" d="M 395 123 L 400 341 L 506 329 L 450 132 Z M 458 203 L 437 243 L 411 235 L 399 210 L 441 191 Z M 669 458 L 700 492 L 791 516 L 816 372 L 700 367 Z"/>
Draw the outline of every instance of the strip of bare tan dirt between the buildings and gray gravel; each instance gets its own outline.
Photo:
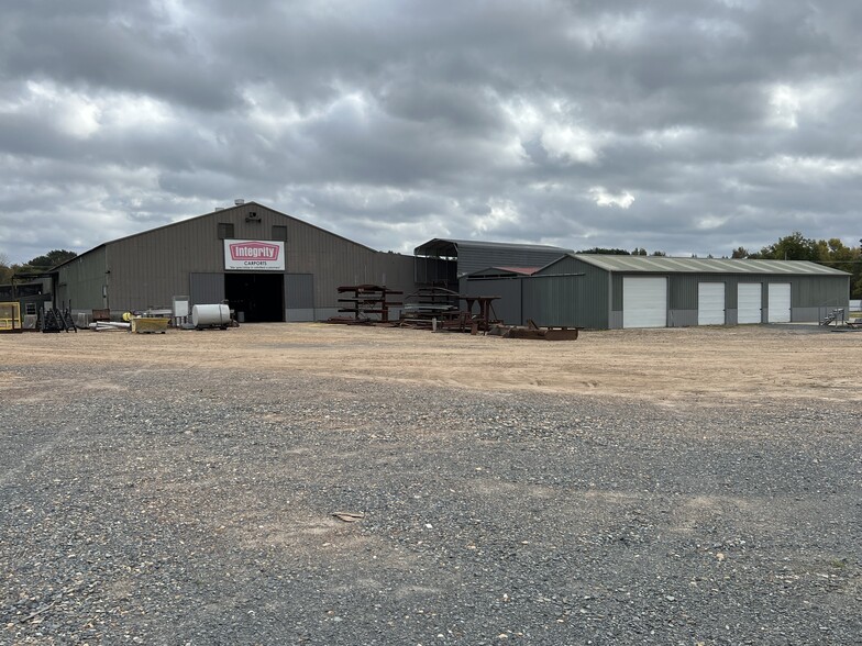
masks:
<path id="1" fill-rule="evenodd" d="M 95 361 L 141 368 L 302 372 L 483 390 L 625 396 L 673 403 L 760 398 L 862 401 L 862 332 L 817 325 L 582 332 L 504 339 L 321 323 L 166 334 L 0 336 L 8 366 Z M 24 388 L 14 378 L 0 392 Z M 91 387 L 98 387 L 92 383 Z"/>

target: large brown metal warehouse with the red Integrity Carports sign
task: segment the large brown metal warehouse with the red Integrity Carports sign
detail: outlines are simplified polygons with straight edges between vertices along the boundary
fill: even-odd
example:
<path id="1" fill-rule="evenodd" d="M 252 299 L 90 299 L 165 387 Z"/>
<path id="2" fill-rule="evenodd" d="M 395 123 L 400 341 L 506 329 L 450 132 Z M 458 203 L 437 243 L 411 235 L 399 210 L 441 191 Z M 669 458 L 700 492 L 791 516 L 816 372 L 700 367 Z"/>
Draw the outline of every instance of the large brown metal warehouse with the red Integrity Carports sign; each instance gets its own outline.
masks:
<path id="1" fill-rule="evenodd" d="M 314 321 L 338 287 L 415 289 L 413 258 L 377 252 L 256 202 L 99 245 L 60 265 L 55 303 L 74 313 L 228 302 L 246 322 Z"/>

